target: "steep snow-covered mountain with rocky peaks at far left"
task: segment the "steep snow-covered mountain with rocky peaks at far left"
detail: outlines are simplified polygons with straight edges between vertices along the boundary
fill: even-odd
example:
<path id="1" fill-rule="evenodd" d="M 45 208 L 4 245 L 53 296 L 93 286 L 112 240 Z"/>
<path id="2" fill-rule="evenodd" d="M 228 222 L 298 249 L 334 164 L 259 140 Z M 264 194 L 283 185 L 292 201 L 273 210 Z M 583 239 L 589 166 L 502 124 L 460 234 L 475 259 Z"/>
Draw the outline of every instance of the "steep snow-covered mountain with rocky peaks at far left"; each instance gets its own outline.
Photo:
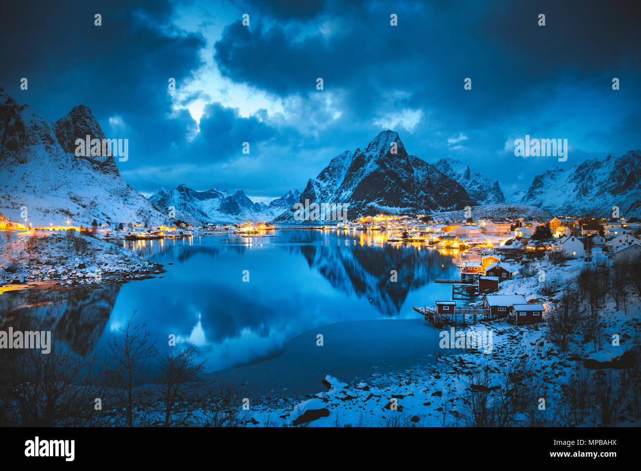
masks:
<path id="1" fill-rule="evenodd" d="M 113 156 L 76 156 L 76 139 L 103 139 L 87 106 L 56 122 L 0 88 L 0 211 L 33 227 L 97 222 L 162 224 L 167 219 L 127 185 Z M 24 213 L 26 211 L 26 214 Z"/>

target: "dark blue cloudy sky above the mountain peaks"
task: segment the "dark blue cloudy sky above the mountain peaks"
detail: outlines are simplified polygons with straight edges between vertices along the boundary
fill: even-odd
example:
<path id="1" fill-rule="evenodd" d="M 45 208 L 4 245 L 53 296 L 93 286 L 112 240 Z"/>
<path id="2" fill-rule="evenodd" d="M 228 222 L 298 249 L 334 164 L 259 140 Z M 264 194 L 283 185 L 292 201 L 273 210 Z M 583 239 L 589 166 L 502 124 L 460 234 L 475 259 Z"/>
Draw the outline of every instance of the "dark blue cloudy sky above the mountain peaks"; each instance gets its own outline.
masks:
<path id="1" fill-rule="evenodd" d="M 129 139 L 118 165 L 147 195 L 185 183 L 269 200 L 383 129 L 426 161 L 498 179 L 506 197 L 547 169 L 641 147 L 632 1 L 11 3 L 0 87 L 48 120 L 87 105 Z M 567 138 L 567 162 L 516 157 L 526 134 Z"/>

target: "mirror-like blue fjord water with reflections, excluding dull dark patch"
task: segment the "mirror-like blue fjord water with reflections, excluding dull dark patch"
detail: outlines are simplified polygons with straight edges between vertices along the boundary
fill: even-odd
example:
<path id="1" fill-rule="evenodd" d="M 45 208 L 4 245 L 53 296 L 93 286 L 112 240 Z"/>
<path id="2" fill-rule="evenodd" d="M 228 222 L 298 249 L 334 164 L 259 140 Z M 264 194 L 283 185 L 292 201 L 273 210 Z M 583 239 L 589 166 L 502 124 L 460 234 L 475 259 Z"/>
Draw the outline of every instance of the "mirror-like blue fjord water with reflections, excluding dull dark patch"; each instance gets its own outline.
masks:
<path id="1" fill-rule="evenodd" d="M 62 318 L 65 342 L 82 353 L 106 347 L 137 311 L 161 351 L 174 334 L 206 356 L 212 370 L 224 370 L 277 356 L 316 327 L 417 318 L 413 306 L 451 299 L 451 286 L 433 280 L 458 277 L 458 252 L 386 239 L 384 232 L 297 229 L 269 237 L 125 241 L 167 272 L 124 285 L 6 293 L 0 302 L 10 304 L 3 306 L 12 313 L 6 322 L 25 314 Z M 392 270 L 397 282 L 390 281 Z"/>

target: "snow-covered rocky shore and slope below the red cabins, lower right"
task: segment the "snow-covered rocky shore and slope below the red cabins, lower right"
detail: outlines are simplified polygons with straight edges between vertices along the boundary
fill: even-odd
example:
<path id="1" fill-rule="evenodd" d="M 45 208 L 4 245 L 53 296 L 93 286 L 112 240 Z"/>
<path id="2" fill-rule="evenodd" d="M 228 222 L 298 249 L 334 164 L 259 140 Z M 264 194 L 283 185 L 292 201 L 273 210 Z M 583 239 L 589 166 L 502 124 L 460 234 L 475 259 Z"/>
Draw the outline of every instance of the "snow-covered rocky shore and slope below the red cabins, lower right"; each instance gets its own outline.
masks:
<path id="1" fill-rule="evenodd" d="M 570 286 L 583 267 L 597 260 L 586 262 L 570 260 L 563 265 L 547 261 L 533 261 L 524 267 L 522 274 L 501 283 L 499 294 L 518 293 L 528 300 L 537 299 L 548 310 L 553 309 L 563 290 Z M 602 260 L 603 261 L 603 260 Z M 541 274 L 545 274 L 545 281 Z M 548 293 L 545 295 L 544 293 Z M 549 294 L 553 293 L 553 294 Z M 641 325 L 641 302 L 630 293 L 628 314 L 617 311 L 609 297 L 599 311 L 601 324 L 601 349 L 594 351 L 592 342 L 583 343 L 577 332 L 572 336 L 567 351 L 550 340 L 547 324 L 524 327 L 521 331 L 504 333 L 512 327 L 507 322 L 476 324 L 473 330 L 490 329 L 494 332 L 491 353 L 466 349 L 453 352 L 444 350 L 435 365 L 423 369 L 413 368 L 404 374 L 373 376 L 370 381 L 346 384 L 328 376 L 322 379 L 325 390 L 311 397 L 281 398 L 253 401 L 247 416 L 247 426 L 466 426 L 473 422 L 472 390 L 490 388 L 488 401 L 501 404 L 510 391 L 527 383 L 524 394 L 526 404 L 513 413 L 508 425 L 512 426 L 564 426 L 567 417 L 568 385 L 574 384 L 585 372 L 583 365 L 592 361 L 592 368 L 606 368 L 613 358 L 626 351 L 637 351 L 638 327 Z M 425 325 L 426 329 L 435 327 Z M 619 343 L 613 342 L 617 335 Z M 488 381 L 479 377 L 487 371 Z M 599 370 L 602 376 L 612 371 Z M 510 382 L 521 374 L 521 386 Z M 472 380 L 472 378 L 475 378 Z M 595 376 L 592 377 L 594 379 Z M 319 378 L 319 389 L 320 389 Z M 481 384 L 472 386 L 471 384 Z M 483 386 L 485 384 L 485 386 Z M 512 389 L 510 389 L 510 387 Z M 633 415 L 632 386 L 616 386 L 620 395 L 618 426 L 639 426 L 641 421 Z M 595 410 L 598 404 L 587 407 L 579 424 L 602 425 L 601 415 Z M 543 407 L 543 408 L 542 408 Z"/>

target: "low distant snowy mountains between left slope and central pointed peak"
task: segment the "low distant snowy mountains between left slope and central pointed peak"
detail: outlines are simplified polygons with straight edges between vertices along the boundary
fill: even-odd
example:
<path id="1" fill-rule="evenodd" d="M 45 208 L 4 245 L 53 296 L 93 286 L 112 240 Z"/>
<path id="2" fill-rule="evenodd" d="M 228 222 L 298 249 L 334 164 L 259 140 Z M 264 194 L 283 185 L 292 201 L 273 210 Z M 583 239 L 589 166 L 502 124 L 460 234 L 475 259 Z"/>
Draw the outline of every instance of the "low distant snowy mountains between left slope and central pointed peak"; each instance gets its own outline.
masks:
<path id="1" fill-rule="evenodd" d="M 192 224 L 201 222 L 229 224 L 243 221 L 270 221 L 293 206 L 299 195 L 298 190 L 290 190 L 282 197 L 274 199 L 268 206 L 263 202 L 251 201 L 243 190 L 238 190 L 234 194 L 217 188 L 198 192 L 186 185 L 178 185 L 169 191 L 163 187 L 158 188 L 149 197 L 149 201 L 167 215 L 170 215 L 173 208 L 172 220 L 183 220 Z"/>

